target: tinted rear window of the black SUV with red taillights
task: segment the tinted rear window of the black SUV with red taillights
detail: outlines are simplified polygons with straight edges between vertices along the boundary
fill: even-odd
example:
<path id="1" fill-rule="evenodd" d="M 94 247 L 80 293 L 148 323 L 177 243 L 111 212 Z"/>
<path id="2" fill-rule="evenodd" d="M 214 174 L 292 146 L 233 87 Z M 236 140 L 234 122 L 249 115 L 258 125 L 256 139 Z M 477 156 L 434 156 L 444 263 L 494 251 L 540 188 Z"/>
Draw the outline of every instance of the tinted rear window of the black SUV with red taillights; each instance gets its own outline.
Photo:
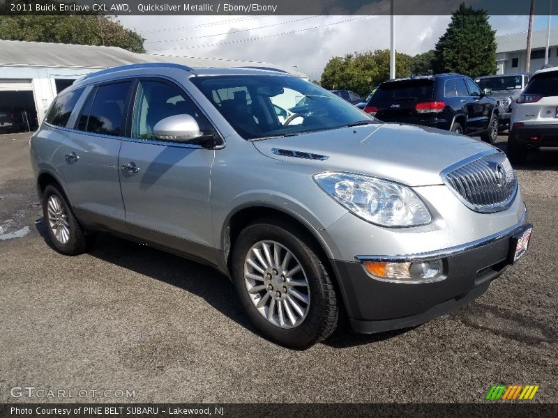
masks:
<path id="1" fill-rule="evenodd" d="M 432 99 L 433 93 L 433 79 L 410 79 L 397 82 L 385 82 L 379 85 L 374 95 L 372 95 L 370 103 L 430 100 Z"/>

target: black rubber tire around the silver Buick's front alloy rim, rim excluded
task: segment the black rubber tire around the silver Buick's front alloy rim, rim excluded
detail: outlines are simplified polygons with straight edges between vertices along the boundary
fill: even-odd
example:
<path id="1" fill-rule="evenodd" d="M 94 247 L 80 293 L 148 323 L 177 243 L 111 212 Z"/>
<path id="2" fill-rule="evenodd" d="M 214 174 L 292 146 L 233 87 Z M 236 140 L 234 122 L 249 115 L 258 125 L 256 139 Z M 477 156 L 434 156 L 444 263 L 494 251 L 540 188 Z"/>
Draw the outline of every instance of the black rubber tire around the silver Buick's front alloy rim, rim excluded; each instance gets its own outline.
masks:
<path id="1" fill-rule="evenodd" d="M 326 339 L 335 331 L 339 318 L 338 300 L 332 279 L 324 263 L 317 256 L 317 251 L 309 242 L 301 239 L 300 235 L 294 235 L 294 229 L 286 222 L 262 219 L 241 231 L 232 251 L 232 277 L 236 293 L 246 314 L 267 339 L 296 349 L 308 348 Z M 291 328 L 285 329 L 269 322 L 260 314 L 248 294 L 244 279 L 245 260 L 252 246 L 264 240 L 278 242 L 291 251 L 306 274 L 310 297 L 308 313 L 299 325 Z"/>

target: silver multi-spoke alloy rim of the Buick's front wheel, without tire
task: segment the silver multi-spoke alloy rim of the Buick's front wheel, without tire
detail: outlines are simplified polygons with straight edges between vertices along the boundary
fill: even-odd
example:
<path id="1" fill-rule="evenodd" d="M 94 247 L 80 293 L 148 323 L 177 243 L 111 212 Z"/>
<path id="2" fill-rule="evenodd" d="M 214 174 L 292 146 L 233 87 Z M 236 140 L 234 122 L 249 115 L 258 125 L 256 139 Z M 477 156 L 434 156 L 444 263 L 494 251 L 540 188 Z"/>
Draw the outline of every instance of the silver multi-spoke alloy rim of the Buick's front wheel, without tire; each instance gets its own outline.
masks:
<path id="1" fill-rule="evenodd" d="M 264 240 L 252 245 L 244 261 L 244 283 L 250 300 L 269 323 L 292 328 L 308 315 L 306 272 L 292 251 L 279 242 Z"/>

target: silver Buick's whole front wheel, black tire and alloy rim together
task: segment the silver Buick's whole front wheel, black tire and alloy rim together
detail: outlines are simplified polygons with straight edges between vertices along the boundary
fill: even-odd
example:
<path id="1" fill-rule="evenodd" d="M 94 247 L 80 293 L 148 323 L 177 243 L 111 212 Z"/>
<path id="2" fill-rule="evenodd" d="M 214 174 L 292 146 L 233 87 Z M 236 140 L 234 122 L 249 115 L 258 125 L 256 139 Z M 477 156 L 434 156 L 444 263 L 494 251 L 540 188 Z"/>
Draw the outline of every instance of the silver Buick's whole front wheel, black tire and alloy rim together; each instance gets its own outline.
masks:
<path id="1" fill-rule="evenodd" d="M 337 326 L 331 277 L 312 249 L 287 224 L 260 221 L 241 231 L 232 254 L 232 275 L 241 304 L 267 338 L 308 348 Z"/>

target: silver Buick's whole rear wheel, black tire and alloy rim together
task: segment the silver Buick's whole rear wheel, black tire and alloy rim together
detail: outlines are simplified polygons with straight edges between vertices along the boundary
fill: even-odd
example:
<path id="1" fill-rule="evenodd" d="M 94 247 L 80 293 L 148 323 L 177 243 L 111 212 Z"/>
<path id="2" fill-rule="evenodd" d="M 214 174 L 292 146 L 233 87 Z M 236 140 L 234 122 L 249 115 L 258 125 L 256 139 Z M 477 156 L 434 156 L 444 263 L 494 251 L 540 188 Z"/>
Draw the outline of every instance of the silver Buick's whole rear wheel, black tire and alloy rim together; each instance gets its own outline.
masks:
<path id="1" fill-rule="evenodd" d="M 93 245 L 95 237 L 85 235 L 66 197 L 54 185 L 43 192 L 43 222 L 52 247 L 61 254 L 77 256 Z"/>

